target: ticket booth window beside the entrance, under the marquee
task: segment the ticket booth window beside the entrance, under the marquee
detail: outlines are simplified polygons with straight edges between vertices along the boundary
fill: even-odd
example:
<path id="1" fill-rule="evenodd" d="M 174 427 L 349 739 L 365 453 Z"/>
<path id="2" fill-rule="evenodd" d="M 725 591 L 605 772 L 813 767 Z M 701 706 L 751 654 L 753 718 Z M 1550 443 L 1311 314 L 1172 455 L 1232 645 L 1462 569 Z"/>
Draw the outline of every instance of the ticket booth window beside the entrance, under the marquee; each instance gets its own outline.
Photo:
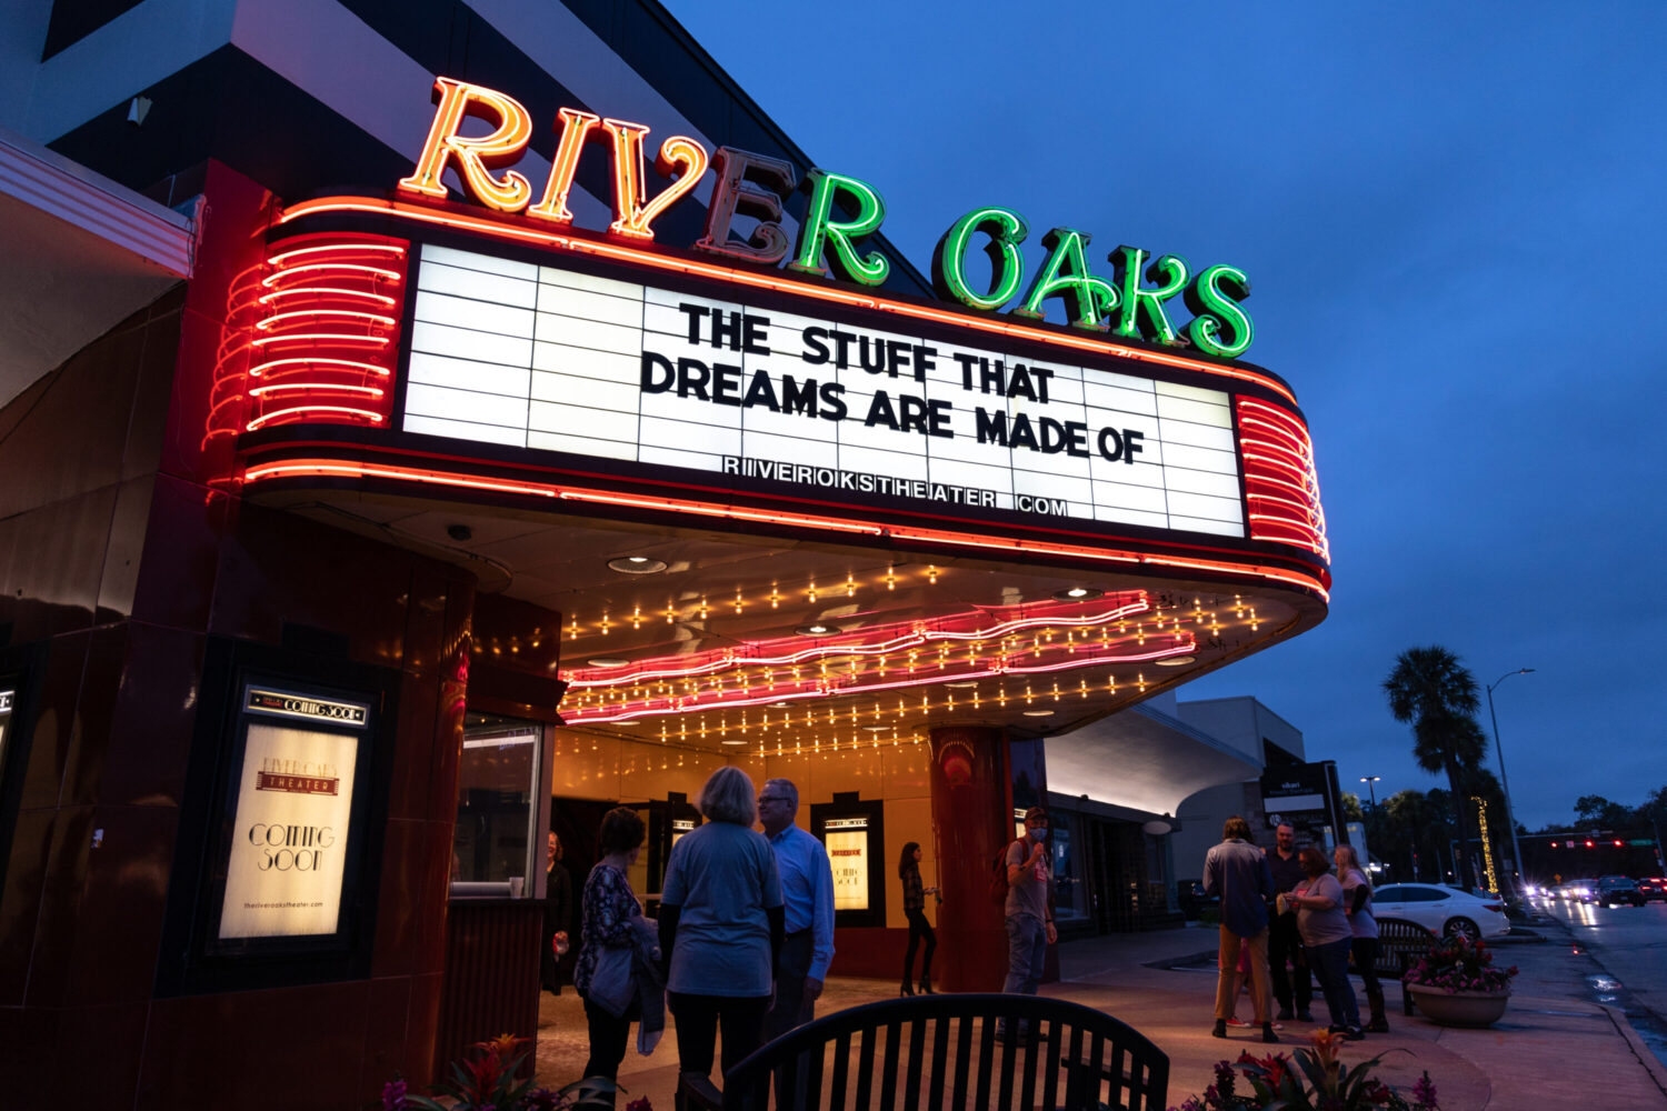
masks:
<path id="1" fill-rule="evenodd" d="M 452 893 L 520 898 L 543 869 L 543 726 L 470 711 L 457 771 Z"/>

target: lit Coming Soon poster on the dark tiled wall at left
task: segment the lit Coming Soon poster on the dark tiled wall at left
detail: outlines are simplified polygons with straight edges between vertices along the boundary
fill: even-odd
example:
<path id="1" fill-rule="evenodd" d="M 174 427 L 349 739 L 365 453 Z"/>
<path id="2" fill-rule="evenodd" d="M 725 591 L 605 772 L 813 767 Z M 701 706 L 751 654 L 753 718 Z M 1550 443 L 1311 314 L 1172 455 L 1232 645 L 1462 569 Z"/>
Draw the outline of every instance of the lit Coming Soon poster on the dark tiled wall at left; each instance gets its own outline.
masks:
<path id="1" fill-rule="evenodd" d="M 333 934 L 368 706 L 252 690 L 243 710 L 220 938 Z"/>

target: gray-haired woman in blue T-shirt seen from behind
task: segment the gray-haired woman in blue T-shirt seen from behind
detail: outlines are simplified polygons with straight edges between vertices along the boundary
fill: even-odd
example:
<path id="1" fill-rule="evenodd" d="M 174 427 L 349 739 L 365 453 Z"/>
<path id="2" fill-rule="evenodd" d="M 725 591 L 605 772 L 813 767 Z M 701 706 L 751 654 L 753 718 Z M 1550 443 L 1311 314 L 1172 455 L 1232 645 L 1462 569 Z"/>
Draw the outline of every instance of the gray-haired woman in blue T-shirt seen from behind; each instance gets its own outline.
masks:
<path id="1" fill-rule="evenodd" d="M 723 1028 L 723 1071 L 758 1048 L 782 948 L 782 881 L 775 853 L 752 828 L 752 780 L 718 768 L 700 788 L 705 825 L 672 846 L 660 896 L 660 949 L 670 961 L 667 999 L 677 1016 L 685 1083 L 712 1074 Z"/>

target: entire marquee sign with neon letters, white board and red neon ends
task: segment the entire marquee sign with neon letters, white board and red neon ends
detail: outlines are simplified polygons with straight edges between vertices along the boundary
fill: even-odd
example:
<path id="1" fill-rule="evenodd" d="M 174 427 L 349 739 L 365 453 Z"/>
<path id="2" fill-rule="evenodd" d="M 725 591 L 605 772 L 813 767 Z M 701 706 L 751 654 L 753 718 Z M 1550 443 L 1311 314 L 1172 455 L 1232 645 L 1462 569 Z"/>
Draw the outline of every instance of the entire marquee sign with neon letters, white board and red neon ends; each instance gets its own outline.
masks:
<path id="1" fill-rule="evenodd" d="M 792 167 L 673 137 L 655 163 L 672 183 L 650 197 L 648 128 L 563 108 L 535 183 L 510 168 L 528 145 L 525 108 L 450 78 L 435 90 L 395 197 L 285 207 L 265 267 L 233 290 L 247 366 L 228 360 L 208 435 L 238 438 L 243 485 L 417 483 L 1325 595 L 1295 396 L 1234 360 L 1250 338 L 1242 273 L 1192 275 L 1122 247 L 1105 280 L 1087 237 L 1054 228 L 1020 296 L 1025 222 L 979 208 L 934 257 L 954 306 L 889 295 L 875 288 L 885 257 L 864 247 L 884 203 L 855 178 L 812 170 L 790 235 Z M 575 228 L 567 203 L 592 147 L 612 155 L 605 233 Z M 655 247 L 653 222 L 707 168 L 705 235 Z M 472 203 L 453 200 L 453 173 Z M 974 247 L 992 258 L 989 290 L 969 285 Z M 830 273 L 849 283 L 817 280 Z M 1052 298 L 1074 326 L 1039 320 Z M 1195 311 L 1185 328 L 1172 300 Z M 317 423 L 528 455 L 417 458 L 397 436 L 242 441 Z M 1249 558 L 1245 545 L 1259 545 Z"/>

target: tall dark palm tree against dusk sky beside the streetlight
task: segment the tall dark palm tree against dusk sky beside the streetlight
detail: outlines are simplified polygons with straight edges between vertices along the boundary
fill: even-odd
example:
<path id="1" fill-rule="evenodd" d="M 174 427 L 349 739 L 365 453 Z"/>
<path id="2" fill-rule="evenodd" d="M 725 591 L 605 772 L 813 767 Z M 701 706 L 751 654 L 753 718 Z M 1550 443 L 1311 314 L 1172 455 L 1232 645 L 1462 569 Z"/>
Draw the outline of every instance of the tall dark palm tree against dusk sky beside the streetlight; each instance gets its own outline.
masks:
<path id="1" fill-rule="evenodd" d="M 1487 755 L 1487 738 L 1475 721 L 1477 683 L 1459 656 L 1440 645 L 1409 648 L 1395 658 L 1395 670 L 1384 680 L 1389 713 L 1412 723 L 1412 755 L 1425 771 L 1445 773 L 1455 798 L 1465 798 L 1470 773 Z M 1459 883 L 1475 886 L 1470 868 L 1470 821 L 1464 806 L 1459 820 Z"/>

